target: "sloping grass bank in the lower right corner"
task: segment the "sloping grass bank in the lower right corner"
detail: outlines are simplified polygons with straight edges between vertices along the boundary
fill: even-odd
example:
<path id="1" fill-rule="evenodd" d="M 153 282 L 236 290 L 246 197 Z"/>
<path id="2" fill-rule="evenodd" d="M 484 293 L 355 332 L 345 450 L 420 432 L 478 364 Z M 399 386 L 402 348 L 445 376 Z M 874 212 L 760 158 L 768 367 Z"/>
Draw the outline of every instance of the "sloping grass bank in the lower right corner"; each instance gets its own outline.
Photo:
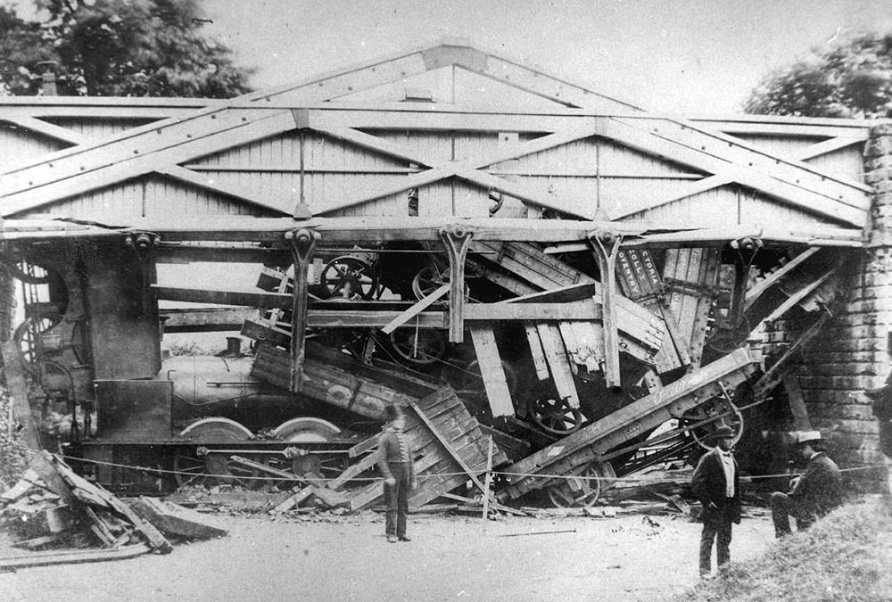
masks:
<path id="1" fill-rule="evenodd" d="M 778 540 L 763 557 L 725 565 L 673 602 L 888 602 L 892 515 L 862 499 Z"/>

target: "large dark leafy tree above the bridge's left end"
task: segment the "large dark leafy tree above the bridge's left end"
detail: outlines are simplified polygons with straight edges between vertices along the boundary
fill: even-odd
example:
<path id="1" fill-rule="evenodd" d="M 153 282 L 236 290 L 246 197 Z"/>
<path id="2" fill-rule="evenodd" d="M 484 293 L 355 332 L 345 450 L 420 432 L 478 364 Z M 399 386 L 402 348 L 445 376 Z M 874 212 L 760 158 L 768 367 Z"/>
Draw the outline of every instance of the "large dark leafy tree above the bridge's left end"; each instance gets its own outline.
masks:
<path id="1" fill-rule="evenodd" d="M 57 63 L 62 95 L 228 98 L 252 70 L 202 31 L 198 0 L 37 0 L 37 21 L 0 8 L 0 78 L 36 94 L 38 63 Z"/>

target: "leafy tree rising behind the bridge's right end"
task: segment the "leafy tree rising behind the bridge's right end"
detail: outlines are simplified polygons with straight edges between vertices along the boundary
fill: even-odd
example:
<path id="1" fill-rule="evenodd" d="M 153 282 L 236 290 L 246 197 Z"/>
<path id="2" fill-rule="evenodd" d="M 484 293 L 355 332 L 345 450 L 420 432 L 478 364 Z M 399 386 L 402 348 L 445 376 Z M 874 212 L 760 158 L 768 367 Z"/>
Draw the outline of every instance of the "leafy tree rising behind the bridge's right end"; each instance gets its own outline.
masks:
<path id="1" fill-rule="evenodd" d="M 802 117 L 892 116 L 892 34 L 854 37 L 775 71 L 753 90 L 747 113 Z"/>

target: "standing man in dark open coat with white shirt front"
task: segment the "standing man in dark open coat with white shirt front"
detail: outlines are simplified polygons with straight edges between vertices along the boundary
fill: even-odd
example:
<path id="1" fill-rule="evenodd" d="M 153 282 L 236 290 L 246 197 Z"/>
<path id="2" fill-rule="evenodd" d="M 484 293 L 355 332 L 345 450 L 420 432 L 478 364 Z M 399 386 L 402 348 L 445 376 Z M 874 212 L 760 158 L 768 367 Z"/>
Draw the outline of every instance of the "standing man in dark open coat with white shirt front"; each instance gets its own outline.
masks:
<path id="1" fill-rule="evenodd" d="M 717 445 L 706 452 L 690 480 L 690 488 L 703 506 L 700 535 L 700 576 L 712 570 L 713 540 L 719 566 L 731 560 L 731 524 L 740 523 L 740 479 L 731 454 L 734 431 L 720 426 L 713 435 Z"/>

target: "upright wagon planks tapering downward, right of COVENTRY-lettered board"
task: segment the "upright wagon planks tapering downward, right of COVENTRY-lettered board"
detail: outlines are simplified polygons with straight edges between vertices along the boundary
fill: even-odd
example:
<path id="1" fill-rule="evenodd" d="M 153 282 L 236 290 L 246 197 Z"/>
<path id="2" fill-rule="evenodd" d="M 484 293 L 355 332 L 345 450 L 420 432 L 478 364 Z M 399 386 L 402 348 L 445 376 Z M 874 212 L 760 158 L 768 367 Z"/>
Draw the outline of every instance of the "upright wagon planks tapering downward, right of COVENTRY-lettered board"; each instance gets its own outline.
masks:
<path id="1" fill-rule="evenodd" d="M 667 249 L 663 282 L 666 301 L 687 340 L 693 368 L 699 367 L 706 341 L 706 319 L 718 293 L 722 252 L 714 248 Z"/>

